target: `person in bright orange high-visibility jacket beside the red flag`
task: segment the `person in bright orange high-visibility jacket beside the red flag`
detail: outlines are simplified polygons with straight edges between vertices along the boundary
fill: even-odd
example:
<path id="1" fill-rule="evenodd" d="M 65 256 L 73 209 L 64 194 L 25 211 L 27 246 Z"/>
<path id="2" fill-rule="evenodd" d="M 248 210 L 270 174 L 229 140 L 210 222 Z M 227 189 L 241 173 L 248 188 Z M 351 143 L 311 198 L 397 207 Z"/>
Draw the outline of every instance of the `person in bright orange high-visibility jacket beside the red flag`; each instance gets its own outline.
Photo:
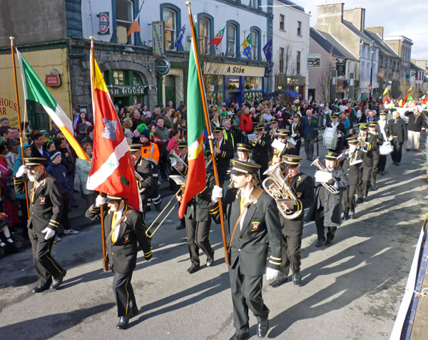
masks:
<path id="1" fill-rule="evenodd" d="M 141 131 L 140 141 L 143 144 L 141 146 L 141 158 L 151 162 L 153 171 L 153 185 L 150 187 L 148 195 L 147 211 L 151 210 L 151 203 L 155 205 L 157 211 L 161 211 L 161 195 L 158 193 L 158 167 L 161 154 L 159 154 L 158 146 L 150 141 L 148 129 Z"/>

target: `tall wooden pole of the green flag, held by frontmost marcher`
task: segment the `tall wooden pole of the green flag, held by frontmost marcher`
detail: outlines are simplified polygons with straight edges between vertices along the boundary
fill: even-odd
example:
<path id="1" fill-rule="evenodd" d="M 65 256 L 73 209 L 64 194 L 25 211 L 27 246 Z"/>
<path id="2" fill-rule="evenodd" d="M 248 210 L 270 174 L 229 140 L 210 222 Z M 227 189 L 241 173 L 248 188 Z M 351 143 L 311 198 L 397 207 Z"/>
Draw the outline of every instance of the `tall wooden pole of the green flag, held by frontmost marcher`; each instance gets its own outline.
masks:
<path id="1" fill-rule="evenodd" d="M 193 16 L 192 16 L 192 10 L 190 9 L 190 6 L 192 3 L 190 1 L 186 1 L 185 4 L 188 6 L 189 9 L 189 22 L 190 22 L 190 31 L 192 32 L 192 44 L 195 48 L 195 59 L 196 59 L 196 69 L 198 71 L 198 82 L 199 82 L 199 89 L 200 94 L 202 96 L 202 106 L 203 106 L 203 114 L 205 116 L 205 125 L 207 126 L 207 132 L 208 132 L 208 141 L 210 144 L 210 151 L 211 151 L 211 159 L 213 160 L 213 172 L 214 172 L 214 178 L 215 178 L 215 185 L 219 186 L 220 181 L 218 180 L 218 172 L 217 172 L 217 164 L 215 164 L 215 153 L 214 153 L 214 145 L 213 145 L 213 132 L 210 128 L 210 119 L 208 118 L 208 109 L 207 109 L 207 101 L 205 96 L 205 88 L 203 86 L 203 78 L 202 78 L 202 71 L 200 71 L 200 62 L 199 62 L 199 54 L 198 54 L 198 45 L 196 44 L 196 34 L 195 34 L 195 26 L 193 23 Z M 228 244 L 226 242 L 226 231 L 225 231 L 225 220 L 223 216 L 223 204 L 222 199 L 218 199 L 218 208 L 220 209 L 220 224 L 221 224 L 221 233 L 223 235 L 223 246 L 225 249 L 225 263 L 227 265 L 230 264 L 229 256 L 228 256 Z"/>

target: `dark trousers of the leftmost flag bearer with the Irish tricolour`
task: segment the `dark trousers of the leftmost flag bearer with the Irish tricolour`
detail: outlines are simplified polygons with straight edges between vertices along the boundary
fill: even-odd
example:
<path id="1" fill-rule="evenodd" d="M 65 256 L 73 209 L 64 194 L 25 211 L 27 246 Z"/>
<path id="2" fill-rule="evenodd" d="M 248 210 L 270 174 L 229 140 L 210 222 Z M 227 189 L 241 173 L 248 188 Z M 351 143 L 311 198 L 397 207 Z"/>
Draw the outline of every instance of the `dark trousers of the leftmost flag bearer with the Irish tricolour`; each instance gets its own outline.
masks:
<path id="1" fill-rule="evenodd" d="M 34 266 L 36 267 L 37 276 L 41 284 L 47 284 L 51 281 L 51 276 L 57 279 L 64 270 L 51 255 L 54 237 L 45 240 L 44 236 L 39 238 L 36 231 L 29 229 L 29 238 L 31 249 L 33 250 Z"/>

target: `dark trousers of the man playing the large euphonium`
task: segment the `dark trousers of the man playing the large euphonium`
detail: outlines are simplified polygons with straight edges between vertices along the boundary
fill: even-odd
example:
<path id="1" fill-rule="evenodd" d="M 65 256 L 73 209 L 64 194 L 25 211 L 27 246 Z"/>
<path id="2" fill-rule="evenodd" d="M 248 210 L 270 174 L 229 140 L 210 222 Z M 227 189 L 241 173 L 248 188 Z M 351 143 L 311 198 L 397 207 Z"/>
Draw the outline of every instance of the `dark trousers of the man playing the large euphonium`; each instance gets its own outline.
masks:
<path id="1" fill-rule="evenodd" d="M 282 246 L 281 246 L 281 257 L 282 262 L 280 266 L 280 273 L 277 279 L 285 281 L 288 276 L 288 272 L 296 274 L 300 271 L 301 254 L 300 248 L 302 247 L 302 234 L 303 234 L 303 220 L 302 228 L 299 230 L 284 230 L 282 229 Z"/>

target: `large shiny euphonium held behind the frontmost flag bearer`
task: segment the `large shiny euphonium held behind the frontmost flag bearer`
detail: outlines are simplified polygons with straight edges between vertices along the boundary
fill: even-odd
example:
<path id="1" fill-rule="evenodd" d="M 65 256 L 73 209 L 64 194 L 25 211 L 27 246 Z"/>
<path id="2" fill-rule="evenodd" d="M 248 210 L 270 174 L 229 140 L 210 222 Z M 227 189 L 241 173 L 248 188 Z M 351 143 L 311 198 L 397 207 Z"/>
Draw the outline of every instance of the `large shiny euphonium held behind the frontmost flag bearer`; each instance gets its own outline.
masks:
<path id="1" fill-rule="evenodd" d="M 296 217 L 300 216 L 302 214 L 302 209 L 291 211 L 285 208 L 285 206 L 283 206 L 281 202 L 278 201 L 278 199 L 297 200 L 296 194 L 287 184 L 288 176 L 284 177 L 284 175 L 282 175 L 280 163 L 273 164 L 263 174 L 267 175 L 267 178 L 262 183 L 263 189 L 265 189 L 267 194 L 269 194 L 272 199 L 275 199 L 278 210 L 282 216 L 284 216 L 285 219 L 295 219 Z M 269 188 L 271 184 L 275 184 L 273 189 Z"/>

